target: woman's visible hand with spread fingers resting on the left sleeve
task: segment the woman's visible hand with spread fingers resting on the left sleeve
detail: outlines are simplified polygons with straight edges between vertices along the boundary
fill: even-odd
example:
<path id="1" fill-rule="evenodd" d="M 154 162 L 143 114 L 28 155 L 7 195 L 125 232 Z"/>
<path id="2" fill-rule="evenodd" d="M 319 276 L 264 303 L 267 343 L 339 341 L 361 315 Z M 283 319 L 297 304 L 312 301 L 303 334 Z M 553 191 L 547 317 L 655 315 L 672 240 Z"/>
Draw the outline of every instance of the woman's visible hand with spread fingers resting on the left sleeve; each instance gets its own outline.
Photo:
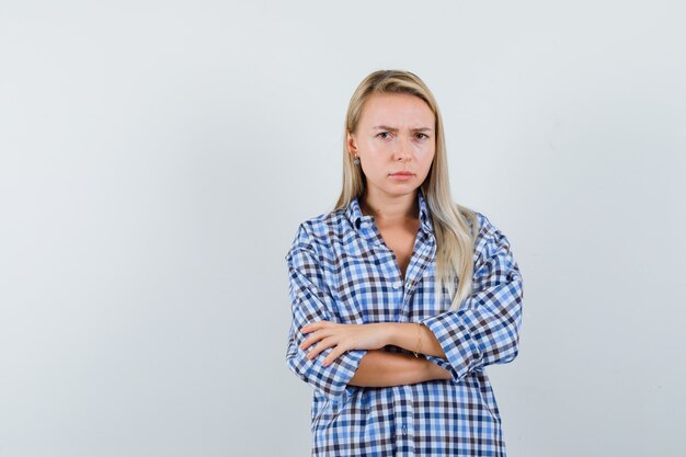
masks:
<path id="1" fill-rule="evenodd" d="M 307 350 L 317 343 L 307 354 L 309 359 L 313 359 L 325 349 L 333 347 L 331 353 L 324 358 L 324 366 L 330 365 L 345 351 L 352 350 L 378 350 L 389 343 L 391 334 L 391 323 L 335 323 L 325 320 L 308 323 L 300 329 L 302 333 L 310 335 L 300 344 L 301 350 Z"/>

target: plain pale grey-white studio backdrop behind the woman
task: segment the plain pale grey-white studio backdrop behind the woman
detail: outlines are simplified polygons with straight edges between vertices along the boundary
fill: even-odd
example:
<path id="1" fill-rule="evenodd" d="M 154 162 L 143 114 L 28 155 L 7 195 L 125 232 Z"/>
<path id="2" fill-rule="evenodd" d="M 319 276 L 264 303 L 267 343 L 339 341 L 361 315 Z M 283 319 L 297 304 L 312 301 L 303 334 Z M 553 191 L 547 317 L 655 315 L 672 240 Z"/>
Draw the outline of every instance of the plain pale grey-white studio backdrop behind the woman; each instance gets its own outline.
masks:
<path id="1" fill-rule="evenodd" d="M 304 456 L 284 255 L 377 69 L 510 238 L 512 457 L 684 456 L 686 7 L 0 7 L 0 456 Z"/>

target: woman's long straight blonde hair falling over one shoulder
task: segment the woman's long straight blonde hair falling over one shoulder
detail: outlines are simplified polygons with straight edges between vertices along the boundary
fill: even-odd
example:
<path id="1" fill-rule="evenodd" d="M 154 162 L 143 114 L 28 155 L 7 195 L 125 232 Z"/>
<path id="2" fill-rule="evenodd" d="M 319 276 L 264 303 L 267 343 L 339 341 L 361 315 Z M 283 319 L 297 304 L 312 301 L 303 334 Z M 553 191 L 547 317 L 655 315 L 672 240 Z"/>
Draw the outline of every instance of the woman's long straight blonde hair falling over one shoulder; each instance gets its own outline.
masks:
<path id="1" fill-rule="evenodd" d="M 365 175 L 362 167 L 353 163 L 345 138 L 348 133 L 355 133 L 367 99 L 378 93 L 418 96 L 428 105 L 436 118 L 434 160 L 420 187 L 426 198 L 436 237 L 436 290 L 439 294 L 447 293 L 451 297 L 450 309 L 458 310 L 462 300 L 471 295 L 473 243 L 479 228 L 478 219 L 475 212 L 453 201 L 441 112 L 434 95 L 414 73 L 400 70 L 375 71 L 367 76 L 353 93 L 345 117 L 343 188 L 335 209 L 345 209 L 353 198 L 362 196 L 365 191 Z"/>

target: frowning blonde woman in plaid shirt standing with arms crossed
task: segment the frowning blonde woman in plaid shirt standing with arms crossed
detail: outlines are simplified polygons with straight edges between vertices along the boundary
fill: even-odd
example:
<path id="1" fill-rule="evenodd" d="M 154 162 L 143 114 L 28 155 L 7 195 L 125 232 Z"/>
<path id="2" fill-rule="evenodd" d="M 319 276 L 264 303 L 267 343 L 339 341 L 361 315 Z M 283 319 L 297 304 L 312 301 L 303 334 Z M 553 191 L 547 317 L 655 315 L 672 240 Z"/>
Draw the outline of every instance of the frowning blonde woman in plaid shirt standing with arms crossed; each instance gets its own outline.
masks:
<path id="1" fill-rule="evenodd" d="M 376 71 L 348 105 L 343 190 L 286 255 L 288 367 L 313 387 L 313 456 L 504 456 L 484 368 L 518 353 L 510 242 L 450 194 L 436 101 Z"/>

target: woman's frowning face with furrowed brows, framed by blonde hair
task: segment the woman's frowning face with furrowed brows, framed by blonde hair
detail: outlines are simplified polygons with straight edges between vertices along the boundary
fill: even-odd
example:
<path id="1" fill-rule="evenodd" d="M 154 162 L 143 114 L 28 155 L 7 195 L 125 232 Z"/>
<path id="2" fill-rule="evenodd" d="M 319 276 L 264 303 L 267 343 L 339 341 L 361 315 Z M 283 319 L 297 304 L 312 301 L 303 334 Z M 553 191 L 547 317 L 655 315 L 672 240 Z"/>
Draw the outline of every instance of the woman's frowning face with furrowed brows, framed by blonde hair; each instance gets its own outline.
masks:
<path id="1" fill-rule="evenodd" d="M 368 192 L 389 197 L 414 192 L 436 151 L 436 118 L 426 102 L 408 94 L 374 94 L 362 108 L 347 148 L 359 157 Z"/>

